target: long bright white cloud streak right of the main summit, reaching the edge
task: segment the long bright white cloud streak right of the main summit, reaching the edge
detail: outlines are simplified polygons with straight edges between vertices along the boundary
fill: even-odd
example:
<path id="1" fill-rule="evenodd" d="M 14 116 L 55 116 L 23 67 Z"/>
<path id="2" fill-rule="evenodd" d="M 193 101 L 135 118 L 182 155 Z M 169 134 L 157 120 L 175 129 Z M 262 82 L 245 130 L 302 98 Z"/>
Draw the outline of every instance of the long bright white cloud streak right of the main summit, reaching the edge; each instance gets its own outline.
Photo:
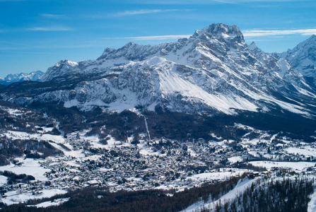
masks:
<path id="1" fill-rule="evenodd" d="M 315 35 L 316 28 L 300 30 L 243 30 L 245 37 L 264 37 L 278 35 Z"/>

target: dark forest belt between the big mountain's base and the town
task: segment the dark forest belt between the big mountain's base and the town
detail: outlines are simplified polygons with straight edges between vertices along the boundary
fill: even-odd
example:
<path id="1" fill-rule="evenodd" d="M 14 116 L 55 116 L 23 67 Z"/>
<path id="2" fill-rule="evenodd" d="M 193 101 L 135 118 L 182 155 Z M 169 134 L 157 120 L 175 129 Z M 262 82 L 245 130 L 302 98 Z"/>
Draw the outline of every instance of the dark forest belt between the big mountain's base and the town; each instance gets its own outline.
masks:
<path id="1" fill-rule="evenodd" d="M 238 143 L 242 136 L 250 133 L 251 130 L 240 129 L 235 126 L 235 123 L 271 131 L 271 134 L 283 131 L 283 136 L 310 141 L 312 140 L 310 135 L 313 135 L 313 129 L 316 127 L 314 120 L 292 113 L 261 114 L 240 111 L 240 114 L 236 116 L 217 114 L 209 117 L 170 112 L 157 106 L 155 112 L 143 110 L 142 115 L 144 116 L 139 116 L 128 110 L 120 113 L 104 112 L 100 107 L 87 112 L 80 111 L 76 107 L 65 108 L 55 104 L 33 105 L 33 108 L 46 112 L 48 117 L 57 119 L 60 123 L 59 129 L 62 129 L 65 134 L 90 129 L 87 136 L 98 135 L 101 139 L 105 139 L 108 134 L 111 134 L 117 141 L 126 141 L 127 137 L 134 136 L 134 143 L 139 141 L 141 134 L 146 133 L 145 117 L 151 138 L 164 137 L 177 141 L 192 141 L 192 139 L 217 141 L 216 137 L 211 136 L 210 132 L 212 132 L 223 139 L 234 140 Z M 294 124 L 293 120 L 295 120 Z M 299 124 L 296 124 L 296 121 Z M 278 124 L 274 124 L 274 122 Z M 248 134 L 249 139 L 257 138 L 257 136 L 259 135 L 254 132 Z"/>

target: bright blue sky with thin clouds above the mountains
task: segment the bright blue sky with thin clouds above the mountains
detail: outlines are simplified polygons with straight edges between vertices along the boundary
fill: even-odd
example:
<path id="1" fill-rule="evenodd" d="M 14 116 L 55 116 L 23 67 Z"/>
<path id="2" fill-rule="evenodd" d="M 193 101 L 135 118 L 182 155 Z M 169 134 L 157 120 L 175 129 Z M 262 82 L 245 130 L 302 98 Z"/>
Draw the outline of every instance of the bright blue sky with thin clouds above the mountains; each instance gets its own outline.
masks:
<path id="1" fill-rule="evenodd" d="M 211 23 L 283 52 L 316 34 L 315 10 L 314 0 L 0 0 L 0 77 L 96 59 L 129 41 L 173 42 Z"/>

